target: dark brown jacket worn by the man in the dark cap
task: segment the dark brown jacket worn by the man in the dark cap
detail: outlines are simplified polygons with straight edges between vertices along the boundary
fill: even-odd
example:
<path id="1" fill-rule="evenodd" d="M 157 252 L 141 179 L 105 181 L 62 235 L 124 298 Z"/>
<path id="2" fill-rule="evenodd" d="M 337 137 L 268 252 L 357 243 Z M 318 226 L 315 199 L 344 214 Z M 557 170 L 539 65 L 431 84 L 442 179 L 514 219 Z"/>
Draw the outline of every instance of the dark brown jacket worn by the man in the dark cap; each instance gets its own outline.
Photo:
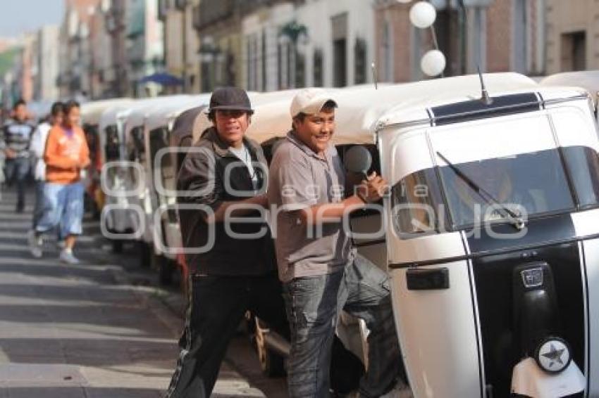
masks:
<path id="1" fill-rule="evenodd" d="M 265 191 L 267 175 L 257 167 L 257 163 L 261 163 L 264 170 L 267 170 L 262 148 L 249 139 L 244 139 L 244 143 L 258 173 L 258 191 L 261 188 Z M 228 150 L 228 145 L 221 141 L 214 127 L 204 131 L 202 139 L 191 148 L 192 151 L 183 160 L 178 174 L 178 191 L 187 191 L 179 195 L 178 203 L 201 205 L 205 206 L 204 209 L 209 207 L 216 210 L 223 202 L 243 200 L 255 195 L 247 167 Z M 224 181 L 226 175 L 228 181 Z M 257 220 L 259 212 L 250 212 L 246 217 Z M 266 221 L 229 224 L 230 229 L 239 234 L 257 233 L 266 229 L 263 237 L 247 239 L 230 236 L 223 222 L 209 226 L 205 219 L 205 211 L 179 210 L 185 248 L 203 247 L 209 243 L 211 234 L 214 238 L 214 245 L 207 252 L 186 255 L 192 273 L 252 276 L 270 274 L 276 270 L 274 246 Z"/>

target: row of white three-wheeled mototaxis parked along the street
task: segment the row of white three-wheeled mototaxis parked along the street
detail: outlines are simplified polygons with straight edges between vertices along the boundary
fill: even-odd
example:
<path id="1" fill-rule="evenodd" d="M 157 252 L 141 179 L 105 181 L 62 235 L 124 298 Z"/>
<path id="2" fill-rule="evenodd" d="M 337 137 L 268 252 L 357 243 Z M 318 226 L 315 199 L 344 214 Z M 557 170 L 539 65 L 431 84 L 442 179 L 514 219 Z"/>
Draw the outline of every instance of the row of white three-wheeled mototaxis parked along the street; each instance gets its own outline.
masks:
<path id="1" fill-rule="evenodd" d="M 568 87 L 576 79 L 500 73 L 332 92 L 346 167 L 391 186 L 350 224 L 358 250 L 390 275 L 414 397 L 599 394 L 599 84 Z M 294 94 L 250 96 L 247 134 L 267 158 Z M 98 125 L 106 229 L 137 240 L 164 282 L 187 269 L 175 181 L 209 127 L 208 101 L 121 100 L 84 120 Z M 288 345 L 259 333 L 266 368 Z M 342 316 L 338 335 L 365 364 L 367 334 Z"/>

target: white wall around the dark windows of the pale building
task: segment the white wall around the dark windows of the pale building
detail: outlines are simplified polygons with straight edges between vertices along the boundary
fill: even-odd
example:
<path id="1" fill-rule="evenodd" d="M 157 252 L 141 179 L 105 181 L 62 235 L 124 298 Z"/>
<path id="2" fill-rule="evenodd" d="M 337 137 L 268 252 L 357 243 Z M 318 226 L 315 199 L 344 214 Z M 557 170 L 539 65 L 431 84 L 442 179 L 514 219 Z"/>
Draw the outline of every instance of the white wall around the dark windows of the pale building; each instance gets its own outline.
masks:
<path id="1" fill-rule="evenodd" d="M 307 32 L 300 36 L 295 44 L 281 34 L 282 28 L 292 22 L 302 25 Z M 371 0 L 307 0 L 295 4 L 282 3 L 271 8 L 261 8 L 246 15 L 242 20 L 242 63 L 244 64 L 242 83 L 251 89 L 261 88 L 262 79 L 249 78 L 248 74 L 252 74 L 252 70 L 260 70 L 264 62 L 262 59 L 259 59 L 258 62 L 254 59 L 252 63 L 252 53 L 256 52 L 255 49 L 258 49 L 257 53 L 261 58 L 262 34 L 266 38 L 267 72 L 264 75 L 266 75 L 266 89 L 268 90 L 288 89 L 298 85 L 317 85 L 317 82 L 314 81 L 316 51 L 319 51 L 323 58 L 323 86 L 335 85 L 335 79 L 338 79 L 339 75 L 343 73 L 342 70 L 338 72 L 333 70 L 335 35 L 338 36 L 338 39 L 345 39 L 345 85 L 357 82 L 354 46 L 357 45 L 358 40 L 364 43 L 366 49 L 361 71 L 364 74 L 363 82 L 372 82 L 369 65 L 376 57 L 373 23 L 373 1 Z M 335 28 L 334 25 L 338 27 Z M 342 28 L 344 26 L 345 29 Z M 338 32 L 334 30 L 338 30 Z M 295 68 L 296 62 L 293 55 L 294 46 L 297 48 L 300 59 L 303 57 L 304 79 L 297 79 L 298 71 Z M 340 48 L 338 50 L 340 51 Z M 288 69 L 291 71 L 288 72 Z M 255 84 L 255 81 L 258 84 Z"/>

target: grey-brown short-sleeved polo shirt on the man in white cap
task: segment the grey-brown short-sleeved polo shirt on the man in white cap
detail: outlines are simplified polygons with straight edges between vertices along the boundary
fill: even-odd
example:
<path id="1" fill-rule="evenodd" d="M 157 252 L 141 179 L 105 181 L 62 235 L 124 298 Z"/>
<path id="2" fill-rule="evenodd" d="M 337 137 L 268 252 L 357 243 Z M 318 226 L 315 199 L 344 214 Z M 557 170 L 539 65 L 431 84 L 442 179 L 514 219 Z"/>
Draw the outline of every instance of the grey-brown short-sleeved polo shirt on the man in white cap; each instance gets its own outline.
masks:
<path id="1" fill-rule="evenodd" d="M 300 223 L 298 210 L 345 197 L 345 171 L 331 146 L 319 157 L 291 131 L 273 156 L 268 202 L 274 206 L 272 229 L 283 282 L 339 271 L 354 256 L 342 222 Z"/>

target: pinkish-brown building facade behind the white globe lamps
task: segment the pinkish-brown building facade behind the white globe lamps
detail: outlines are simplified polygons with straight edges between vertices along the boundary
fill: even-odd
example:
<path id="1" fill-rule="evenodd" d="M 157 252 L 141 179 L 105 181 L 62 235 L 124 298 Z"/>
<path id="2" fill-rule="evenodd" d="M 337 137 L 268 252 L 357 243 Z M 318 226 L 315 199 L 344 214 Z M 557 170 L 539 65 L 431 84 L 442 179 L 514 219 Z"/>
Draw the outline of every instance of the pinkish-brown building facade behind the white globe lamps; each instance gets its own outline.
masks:
<path id="1" fill-rule="evenodd" d="M 445 76 L 515 71 L 545 72 L 545 0 L 431 1 L 438 47 L 447 60 Z M 431 29 L 409 20 L 414 2 L 377 0 L 375 4 L 378 76 L 385 82 L 423 79 L 420 62 L 435 49 Z"/>

